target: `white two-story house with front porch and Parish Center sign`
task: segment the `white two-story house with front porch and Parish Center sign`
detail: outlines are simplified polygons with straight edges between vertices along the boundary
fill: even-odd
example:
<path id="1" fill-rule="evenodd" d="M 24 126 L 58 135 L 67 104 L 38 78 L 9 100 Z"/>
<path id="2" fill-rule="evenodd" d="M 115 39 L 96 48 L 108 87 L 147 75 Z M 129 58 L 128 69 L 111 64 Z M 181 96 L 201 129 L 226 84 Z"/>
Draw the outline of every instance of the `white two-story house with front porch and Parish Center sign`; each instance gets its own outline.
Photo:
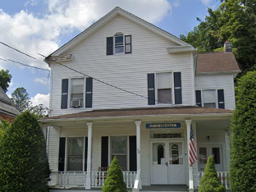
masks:
<path id="1" fill-rule="evenodd" d="M 214 155 L 229 187 L 229 126 L 240 72 L 231 43 L 225 53 L 199 54 L 116 7 L 45 61 L 52 69 L 51 112 L 41 122 L 51 185 L 101 187 L 103 167 L 117 156 L 135 191 L 140 185 L 193 191 Z M 190 126 L 198 156 L 193 167 Z"/>

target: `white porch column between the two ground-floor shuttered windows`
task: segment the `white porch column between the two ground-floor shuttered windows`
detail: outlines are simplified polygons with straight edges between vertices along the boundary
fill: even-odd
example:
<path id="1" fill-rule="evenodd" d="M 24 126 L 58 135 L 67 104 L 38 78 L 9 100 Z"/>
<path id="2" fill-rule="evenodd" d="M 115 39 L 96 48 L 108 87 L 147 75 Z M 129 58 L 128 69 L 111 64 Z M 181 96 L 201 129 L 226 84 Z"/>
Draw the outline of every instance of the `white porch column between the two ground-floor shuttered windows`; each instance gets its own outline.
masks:
<path id="1" fill-rule="evenodd" d="M 91 167 L 92 167 L 92 122 L 87 123 L 88 126 L 88 152 L 87 152 L 87 175 L 85 189 L 91 189 Z"/>

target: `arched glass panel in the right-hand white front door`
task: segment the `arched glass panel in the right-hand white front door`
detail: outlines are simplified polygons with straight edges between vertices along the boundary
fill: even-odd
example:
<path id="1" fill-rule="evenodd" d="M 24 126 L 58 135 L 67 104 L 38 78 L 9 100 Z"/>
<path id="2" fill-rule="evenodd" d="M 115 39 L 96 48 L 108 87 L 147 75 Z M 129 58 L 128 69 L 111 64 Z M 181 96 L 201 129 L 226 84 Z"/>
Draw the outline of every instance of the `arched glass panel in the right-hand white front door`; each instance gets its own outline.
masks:
<path id="1" fill-rule="evenodd" d="M 170 164 L 171 165 L 183 164 L 182 145 L 170 143 L 169 149 L 170 149 Z"/>

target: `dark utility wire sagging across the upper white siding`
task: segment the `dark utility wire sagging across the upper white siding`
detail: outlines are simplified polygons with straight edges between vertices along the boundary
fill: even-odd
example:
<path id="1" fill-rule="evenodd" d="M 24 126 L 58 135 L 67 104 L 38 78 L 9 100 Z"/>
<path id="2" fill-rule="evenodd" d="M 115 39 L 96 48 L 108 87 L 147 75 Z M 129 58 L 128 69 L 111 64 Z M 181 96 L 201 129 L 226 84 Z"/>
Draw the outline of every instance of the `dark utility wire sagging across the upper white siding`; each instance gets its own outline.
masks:
<path id="1" fill-rule="evenodd" d="M 44 57 L 44 58 L 46 58 L 44 55 L 42 55 L 42 54 L 40 54 L 40 53 L 39 53 L 39 55 L 42 56 L 42 57 Z M 56 62 L 56 61 L 54 61 L 53 59 L 51 59 L 51 62 Z M 60 63 L 60 62 L 56 62 L 56 63 L 59 64 L 59 65 L 61 65 L 61 66 L 64 66 L 64 67 L 70 69 L 71 71 L 75 71 L 75 72 L 77 72 L 77 73 L 80 73 L 81 75 L 85 75 L 85 76 L 87 76 L 87 77 L 89 77 L 89 78 L 92 78 L 92 79 L 94 79 L 94 80 L 97 80 L 98 82 L 103 83 L 103 84 L 108 85 L 108 86 L 111 86 L 111 87 L 113 87 L 113 88 L 115 88 L 115 89 L 119 89 L 119 90 L 124 91 L 124 92 L 129 93 L 129 94 L 134 94 L 134 95 L 139 96 L 139 97 L 141 97 L 141 98 L 147 98 L 147 99 L 149 99 L 149 100 L 153 100 L 153 101 L 156 101 L 156 102 L 161 102 L 161 101 L 159 101 L 159 100 L 157 100 L 157 99 L 148 98 L 148 97 L 146 97 L 146 96 L 144 96 L 144 95 L 135 94 L 134 92 L 131 92 L 131 91 L 129 91 L 129 90 L 122 89 L 122 88 L 117 87 L 117 86 L 115 86 L 115 85 L 108 84 L 108 83 L 104 82 L 103 80 L 98 80 L 98 79 L 96 79 L 96 78 L 94 78 L 94 77 L 92 77 L 92 76 L 89 76 L 89 75 L 86 75 L 85 73 L 82 73 L 82 72 L 80 72 L 80 71 L 77 71 L 77 70 L 71 68 L 70 66 L 65 66 L 65 65 L 63 65 L 63 64 Z M 167 102 L 161 102 L 161 103 L 167 103 Z M 170 104 L 170 103 L 167 103 L 167 104 Z"/>

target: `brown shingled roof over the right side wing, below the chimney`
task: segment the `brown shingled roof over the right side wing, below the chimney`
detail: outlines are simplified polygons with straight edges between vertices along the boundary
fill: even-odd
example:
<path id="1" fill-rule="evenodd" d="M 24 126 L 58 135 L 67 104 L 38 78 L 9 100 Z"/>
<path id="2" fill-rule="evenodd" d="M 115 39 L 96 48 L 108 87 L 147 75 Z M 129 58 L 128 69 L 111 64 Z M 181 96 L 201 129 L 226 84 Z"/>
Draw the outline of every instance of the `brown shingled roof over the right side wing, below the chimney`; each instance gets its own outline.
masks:
<path id="1" fill-rule="evenodd" d="M 199 53 L 196 73 L 234 72 L 239 73 L 240 67 L 233 53 Z"/>

